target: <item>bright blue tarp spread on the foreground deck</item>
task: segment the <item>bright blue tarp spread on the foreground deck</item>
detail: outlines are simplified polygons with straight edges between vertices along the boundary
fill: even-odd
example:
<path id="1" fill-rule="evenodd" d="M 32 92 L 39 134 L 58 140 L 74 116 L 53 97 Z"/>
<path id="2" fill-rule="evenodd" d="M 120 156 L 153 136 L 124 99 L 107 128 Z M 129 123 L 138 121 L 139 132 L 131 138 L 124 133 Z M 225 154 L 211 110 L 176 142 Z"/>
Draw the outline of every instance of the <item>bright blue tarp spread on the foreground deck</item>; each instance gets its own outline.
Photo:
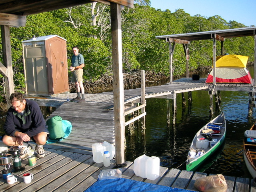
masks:
<path id="1" fill-rule="evenodd" d="M 96 181 L 84 192 L 192 192 L 191 190 L 144 183 L 125 178 Z"/>

